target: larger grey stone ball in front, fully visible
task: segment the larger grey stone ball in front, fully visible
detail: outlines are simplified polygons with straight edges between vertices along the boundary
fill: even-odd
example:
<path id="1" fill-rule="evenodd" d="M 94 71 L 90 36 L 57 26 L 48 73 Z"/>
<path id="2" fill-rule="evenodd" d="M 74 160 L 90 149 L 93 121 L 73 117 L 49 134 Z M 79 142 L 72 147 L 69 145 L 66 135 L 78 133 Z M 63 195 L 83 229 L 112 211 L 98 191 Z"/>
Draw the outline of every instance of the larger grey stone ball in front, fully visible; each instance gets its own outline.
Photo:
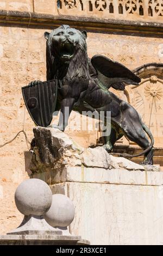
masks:
<path id="1" fill-rule="evenodd" d="M 23 215 L 44 215 L 52 204 L 52 191 L 40 179 L 24 180 L 16 189 L 15 203 Z"/>

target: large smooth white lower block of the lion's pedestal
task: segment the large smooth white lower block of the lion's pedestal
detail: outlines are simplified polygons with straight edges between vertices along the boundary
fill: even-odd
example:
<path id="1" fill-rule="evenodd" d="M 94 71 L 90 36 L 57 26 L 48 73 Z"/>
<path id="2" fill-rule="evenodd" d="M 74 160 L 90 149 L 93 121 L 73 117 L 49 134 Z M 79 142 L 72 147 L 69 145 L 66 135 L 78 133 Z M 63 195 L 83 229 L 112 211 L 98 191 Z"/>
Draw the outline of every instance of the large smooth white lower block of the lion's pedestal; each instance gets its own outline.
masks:
<path id="1" fill-rule="evenodd" d="M 71 234 L 82 235 L 91 245 L 163 243 L 162 186 L 78 180 L 52 185 L 52 192 L 65 193 L 76 205 Z"/>

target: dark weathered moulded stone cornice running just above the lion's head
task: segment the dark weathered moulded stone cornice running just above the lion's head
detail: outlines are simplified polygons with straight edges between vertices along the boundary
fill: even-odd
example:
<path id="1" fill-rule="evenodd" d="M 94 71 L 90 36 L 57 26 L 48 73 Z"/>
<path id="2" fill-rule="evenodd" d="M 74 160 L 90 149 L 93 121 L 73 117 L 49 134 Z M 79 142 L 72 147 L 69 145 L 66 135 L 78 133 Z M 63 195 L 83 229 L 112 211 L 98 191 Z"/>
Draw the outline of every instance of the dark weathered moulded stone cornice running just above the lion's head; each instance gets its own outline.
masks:
<path id="1" fill-rule="evenodd" d="M 29 13 L 26 11 L 7 11 L 0 10 L 0 23 L 5 25 L 27 26 L 30 27 L 54 28 L 61 24 L 68 24 L 73 27 L 85 27 L 92 31 L 114 31 L 114 32 L 134 32 L 146 34 L 163 34 L 163 23 L 103 19 L 96 17 L 80 17 L 51 15 L 40 13 Z"/>

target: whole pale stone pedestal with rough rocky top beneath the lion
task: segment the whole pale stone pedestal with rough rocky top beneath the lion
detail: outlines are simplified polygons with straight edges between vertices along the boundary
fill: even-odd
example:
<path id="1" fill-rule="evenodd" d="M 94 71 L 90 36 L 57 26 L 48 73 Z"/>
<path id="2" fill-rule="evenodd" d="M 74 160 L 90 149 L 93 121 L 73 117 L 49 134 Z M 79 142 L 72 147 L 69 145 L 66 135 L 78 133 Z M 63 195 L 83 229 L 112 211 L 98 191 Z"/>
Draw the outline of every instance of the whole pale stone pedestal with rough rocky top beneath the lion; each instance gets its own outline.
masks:
<path id="1" fill-rule="evenodd" d="M 163 173 L 106 153 L 83 149 L 59 130 L 36 127 L 36 147 L 26 166 L 31 178 L 70 197 L 72 235 L 91 245 L 163 244 Z M 31 157 L 31 156 L 30 156 Z"/>

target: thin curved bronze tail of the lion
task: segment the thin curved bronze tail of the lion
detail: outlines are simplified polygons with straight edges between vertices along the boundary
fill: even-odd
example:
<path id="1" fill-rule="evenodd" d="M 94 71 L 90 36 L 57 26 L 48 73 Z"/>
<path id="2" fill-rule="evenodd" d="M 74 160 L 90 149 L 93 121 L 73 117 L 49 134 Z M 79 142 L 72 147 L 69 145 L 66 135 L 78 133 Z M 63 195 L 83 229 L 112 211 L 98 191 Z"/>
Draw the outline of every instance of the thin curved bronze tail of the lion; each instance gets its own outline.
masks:
<path id="1" fill-rule="evenodd" d="M 142 156 L 144 154 L 146 154 L 149 150 L 151 150 L 153 148 L 153 145 L 154 145 L 154 138 L 153 138 L 153 135 L 151 133 L 151 131 L 148 129 L 148 127 L 142 123 L 142 127 L 143 127 L 143 130 L 147 133 L 147 135 L 149 136 L 149 138 L 151 139 L 151 144 L 149 145 L 148 148 L 146 148 L 145 150 L 143 150 L 141 153 L 139 154 L 135 154 L 135 155 L 129 155 L 129 154 L 126 154 L 126 153 L 123 153 L 123 154 L 120 154 L 120 156 L 122 157 L 127 157 L 127 158 L 133 158 L 133 157 L 137 157 L 137 156 Z"/>

